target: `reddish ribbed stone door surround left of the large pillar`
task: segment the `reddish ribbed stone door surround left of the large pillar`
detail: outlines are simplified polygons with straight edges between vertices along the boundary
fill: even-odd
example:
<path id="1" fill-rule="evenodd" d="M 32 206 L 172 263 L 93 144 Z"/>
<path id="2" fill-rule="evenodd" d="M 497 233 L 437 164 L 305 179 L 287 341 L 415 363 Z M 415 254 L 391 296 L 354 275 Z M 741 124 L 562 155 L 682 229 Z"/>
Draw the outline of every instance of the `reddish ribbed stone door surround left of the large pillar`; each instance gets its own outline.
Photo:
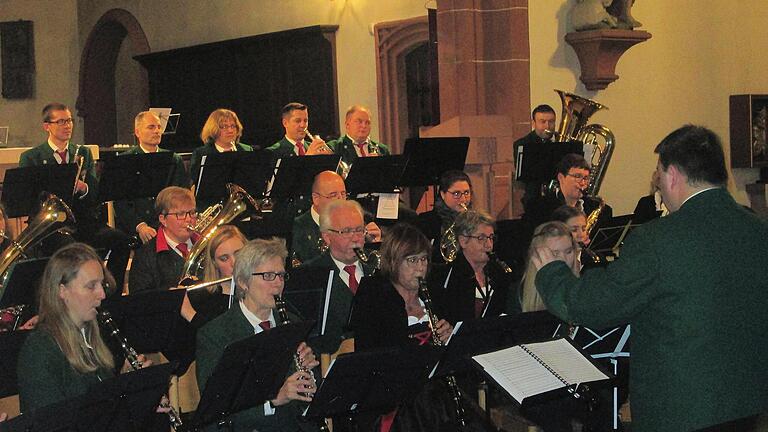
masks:
<path id="1" fill-rule="evenodd" d="M 376 24 L 376 84 L 379 97 L 379 138 L 402 151 L 400 143 L 408 136 L 408 110 L 405 89 L 405 57 L 429 42 L 426 16 Z"/>

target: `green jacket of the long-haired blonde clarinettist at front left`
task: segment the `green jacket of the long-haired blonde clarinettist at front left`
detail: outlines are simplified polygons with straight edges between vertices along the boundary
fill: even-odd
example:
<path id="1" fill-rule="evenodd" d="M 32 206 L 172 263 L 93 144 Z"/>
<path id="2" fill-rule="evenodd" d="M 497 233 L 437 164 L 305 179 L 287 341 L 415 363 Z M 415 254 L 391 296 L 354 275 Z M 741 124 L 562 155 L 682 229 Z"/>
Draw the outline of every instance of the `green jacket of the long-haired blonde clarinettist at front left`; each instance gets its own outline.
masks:
<path id="1" fill-rule="evenodd" d="M 88 388 L 114 373 L 98 370 L 80 373 L 69 364 L 53 338 L 42 330 L 33 330 L 19 353 L 17 365 L 21 412 L 84 395 Z"/>

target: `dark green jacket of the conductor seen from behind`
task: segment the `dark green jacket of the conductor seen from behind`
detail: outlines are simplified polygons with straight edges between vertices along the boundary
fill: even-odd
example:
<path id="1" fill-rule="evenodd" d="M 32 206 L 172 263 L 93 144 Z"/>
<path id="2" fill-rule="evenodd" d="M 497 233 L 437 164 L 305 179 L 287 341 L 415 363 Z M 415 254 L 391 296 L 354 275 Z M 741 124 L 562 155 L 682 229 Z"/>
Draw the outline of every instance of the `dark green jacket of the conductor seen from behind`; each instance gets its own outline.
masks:
<path id="1" fill-rule="evenodd" d="M 725 189 L 635 230 L 621 258 L 536 286 L 558 317 L 632 324 L 632 430 L 687 431 L 768 408 L 768 225 Z"/>

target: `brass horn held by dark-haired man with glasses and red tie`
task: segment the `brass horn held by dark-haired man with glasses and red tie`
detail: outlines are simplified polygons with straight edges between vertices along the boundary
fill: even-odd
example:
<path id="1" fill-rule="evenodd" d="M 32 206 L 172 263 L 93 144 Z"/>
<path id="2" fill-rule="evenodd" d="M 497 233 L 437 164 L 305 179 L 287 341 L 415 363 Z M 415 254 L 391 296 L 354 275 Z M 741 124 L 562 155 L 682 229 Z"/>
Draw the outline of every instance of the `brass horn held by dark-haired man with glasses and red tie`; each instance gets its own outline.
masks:
<path id="1" fill-rule="evenodd" d="M 195 226 L 190 225 L 187 227 L 190 231 L 197 233 L 200 238 L 190 249 L 187 260 L 184 262 L 179 285 L 183 285 L 190 280 L 199 279 L 199 274 L 205 265 L 205 254 L 203 252 L 220 226 L 232 222 L 245 211 L 249 203 L 257 212 L 261 212 L 263 203 L 258 203 L 240 186 L 234 183 L 227 183 L 227 190 L 229 191 L 229 197 L 223 205 L 214 204 L 208 207 L 200 214 Z"/>

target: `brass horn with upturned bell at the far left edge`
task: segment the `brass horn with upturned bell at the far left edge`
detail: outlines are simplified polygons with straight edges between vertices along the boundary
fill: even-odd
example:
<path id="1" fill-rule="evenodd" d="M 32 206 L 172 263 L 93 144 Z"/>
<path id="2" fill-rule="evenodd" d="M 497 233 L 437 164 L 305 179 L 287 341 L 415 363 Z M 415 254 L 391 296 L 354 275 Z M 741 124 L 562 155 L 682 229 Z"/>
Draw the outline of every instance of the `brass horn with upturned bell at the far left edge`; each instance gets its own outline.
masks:
<path id="1" fill-rule="evenodd" d="M 29 224 L 24 231 L 15 241 L 11 241 L 10 246 L 0 256 L 0 285 L 5 286 L 8 282 L 8 269 L 13 263 L 26 258 L 25 254 L 30 248 L 66 223 L 75 223 L 72 210 L 56 195 L 49 195 L 37 215 L 29 219 Z"/>

